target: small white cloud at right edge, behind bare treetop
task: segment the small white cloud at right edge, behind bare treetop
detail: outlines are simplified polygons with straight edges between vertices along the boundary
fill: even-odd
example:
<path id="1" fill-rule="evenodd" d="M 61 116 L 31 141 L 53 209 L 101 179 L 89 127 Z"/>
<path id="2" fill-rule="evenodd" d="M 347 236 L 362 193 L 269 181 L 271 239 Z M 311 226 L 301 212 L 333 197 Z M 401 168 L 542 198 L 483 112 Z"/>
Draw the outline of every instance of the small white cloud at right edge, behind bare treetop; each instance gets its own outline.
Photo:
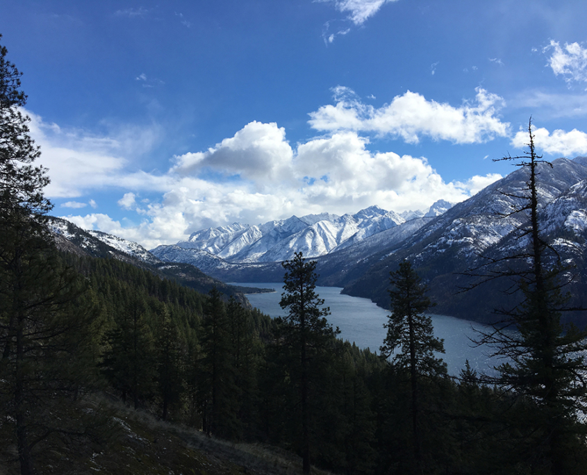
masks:
<path id="1" fill-rule="evenodd" d="M 536 128 L 532 133 L 534 133 L 535 146 L 551 155 L 573 158 L 587 153 L 587 133 L 577 131 L 576 128 L 570 132 L 559 129 L 552 134 L 546 128 Z M 522 149 L 526 147 L 527 142 L 528 132 L 520 130 L 515 134 L 511 144 Z"/>

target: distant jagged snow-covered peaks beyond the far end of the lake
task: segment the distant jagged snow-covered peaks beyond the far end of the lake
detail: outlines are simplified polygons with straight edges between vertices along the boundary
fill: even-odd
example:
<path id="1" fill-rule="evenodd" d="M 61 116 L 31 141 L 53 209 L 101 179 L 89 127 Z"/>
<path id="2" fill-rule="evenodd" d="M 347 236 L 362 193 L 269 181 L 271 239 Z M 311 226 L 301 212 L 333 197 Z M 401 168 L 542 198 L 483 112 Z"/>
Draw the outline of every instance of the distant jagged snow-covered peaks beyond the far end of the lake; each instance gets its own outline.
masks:
<path id="1" fill-rule="evenodd" d="M 451 206 L 435 203 L 427 215 L 436 216 Z M 421 213 L 421 216 L 425 213 Z M 346 249 L 358 242 L 406 222 L 393 211 L 370 206 L 354 215 L 306 215 L 249 226 L 208 228 L 190 235 L 174 246 L 159 246 L 151 253 L 163 260 L 204 263 L 204 251 L 226 263 L 276 263 L 293 258 L 296 252 L 308 258 Z"/>

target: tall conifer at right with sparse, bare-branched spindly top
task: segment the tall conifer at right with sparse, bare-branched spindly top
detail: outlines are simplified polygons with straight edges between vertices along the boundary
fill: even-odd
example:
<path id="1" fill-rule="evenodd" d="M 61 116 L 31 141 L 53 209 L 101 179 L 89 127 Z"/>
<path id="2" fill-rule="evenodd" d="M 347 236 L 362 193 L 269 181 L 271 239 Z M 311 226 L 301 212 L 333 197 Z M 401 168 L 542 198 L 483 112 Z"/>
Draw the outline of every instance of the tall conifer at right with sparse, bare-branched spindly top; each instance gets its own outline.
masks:
<path id="1" fill-rule="evenodd" d="M 584 452 L 586 426 L 577 416 L 584 412 L 587 369 L 584 354 L 587 332 L 573 325 L 561 324 L 561 313 L 568 300 L 562 293 L 563 274 L 556 251 L 549 246 L 540 223 L 540 169 L 552 167 L 538 156 L 532 124 L 528 126 L 529 142 L 522 156 L 506 156 L 527 173 L 525 188 L 520 192 L 504 192 L 514 202 L 511 215 L 526 215 L 518 228 L 520 251 L 490 259 L 490 272 L 470 272 L 482 276 L 481 283 L 495 278 L 514 280 L 507 296 L 518 297 L 513 307 L 497 309 L 502 319 L 490 331 L 482 332 L 480 344 L 495 348 L 495 355 L 506 358 L 496 369 L 497 376 L 485 378 L 534 406 L 533 410 L 512 412 L 508 422 L 517 424 L 519 460 L 531 469 L 548 474 L 579 473 L 573 452 Z M 475 284 L 479 285 L 479 283 Z M 516 292 L 518 291 L 518 292 Z M 513 331 L 515 328 L 515 331 Z M 583 473 L 583 472 L 581 472 Z"/>

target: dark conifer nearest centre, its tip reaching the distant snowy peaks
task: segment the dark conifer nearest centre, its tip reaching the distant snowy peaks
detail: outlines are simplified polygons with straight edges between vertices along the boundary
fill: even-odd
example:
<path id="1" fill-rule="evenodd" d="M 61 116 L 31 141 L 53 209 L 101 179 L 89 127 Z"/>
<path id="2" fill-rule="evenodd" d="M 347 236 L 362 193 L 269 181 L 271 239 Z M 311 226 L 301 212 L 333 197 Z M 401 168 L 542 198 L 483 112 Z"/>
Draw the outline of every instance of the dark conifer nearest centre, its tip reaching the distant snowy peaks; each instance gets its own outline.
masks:
<path id="1" fill-rule="evenodd" d="M 283 276 L 283 289 L 279 305 L 288 310 L 288 315 L 279 320 L 281 326 L 278 336 L 283 347 L 291 354 L 290 377 L 299 392 L 301 408 L 301 456 L 304 473 L 310 472 L 311 450 L 311 390 L 317 383 L 313 374 L 320 362 L 319 357 L 332 344 L 339 333 L 326 321 L 330 314 L 328 307 L 321 308 L 324 300 L 315 292 L 317 274 L 316 262 L 304 261 L 301 252 L 295 253 L 292 260 L 282 263 L 286 269 Z"/>

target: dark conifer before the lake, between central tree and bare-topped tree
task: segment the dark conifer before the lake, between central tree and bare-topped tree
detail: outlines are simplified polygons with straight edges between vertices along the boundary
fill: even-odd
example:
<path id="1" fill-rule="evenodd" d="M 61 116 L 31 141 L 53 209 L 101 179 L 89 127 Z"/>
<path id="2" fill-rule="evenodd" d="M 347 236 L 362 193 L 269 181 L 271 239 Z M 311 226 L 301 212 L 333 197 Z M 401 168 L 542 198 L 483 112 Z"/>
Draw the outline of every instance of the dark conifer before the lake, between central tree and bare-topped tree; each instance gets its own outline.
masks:
<path id="1" fill-rule="evenodd" d="M 381 346 L 381 356 L 391 358 L 391 365 L 399 373 L 407 371 L 411 382 L 411 417 L 413 456 L 417 471 L 422 469 L 420 451 L 420 379 L 446 373 L 446 364 L 434 353 L 444 353 L 443 340 L 433 336 L 432 320 L 424 315 L 432 303 L 426 297 L 426 288 L 408 260 L 399 263 L 399 269 L 390 272 L 389 291 L 391 315 L 385 324 L 387 335 Z"/>

